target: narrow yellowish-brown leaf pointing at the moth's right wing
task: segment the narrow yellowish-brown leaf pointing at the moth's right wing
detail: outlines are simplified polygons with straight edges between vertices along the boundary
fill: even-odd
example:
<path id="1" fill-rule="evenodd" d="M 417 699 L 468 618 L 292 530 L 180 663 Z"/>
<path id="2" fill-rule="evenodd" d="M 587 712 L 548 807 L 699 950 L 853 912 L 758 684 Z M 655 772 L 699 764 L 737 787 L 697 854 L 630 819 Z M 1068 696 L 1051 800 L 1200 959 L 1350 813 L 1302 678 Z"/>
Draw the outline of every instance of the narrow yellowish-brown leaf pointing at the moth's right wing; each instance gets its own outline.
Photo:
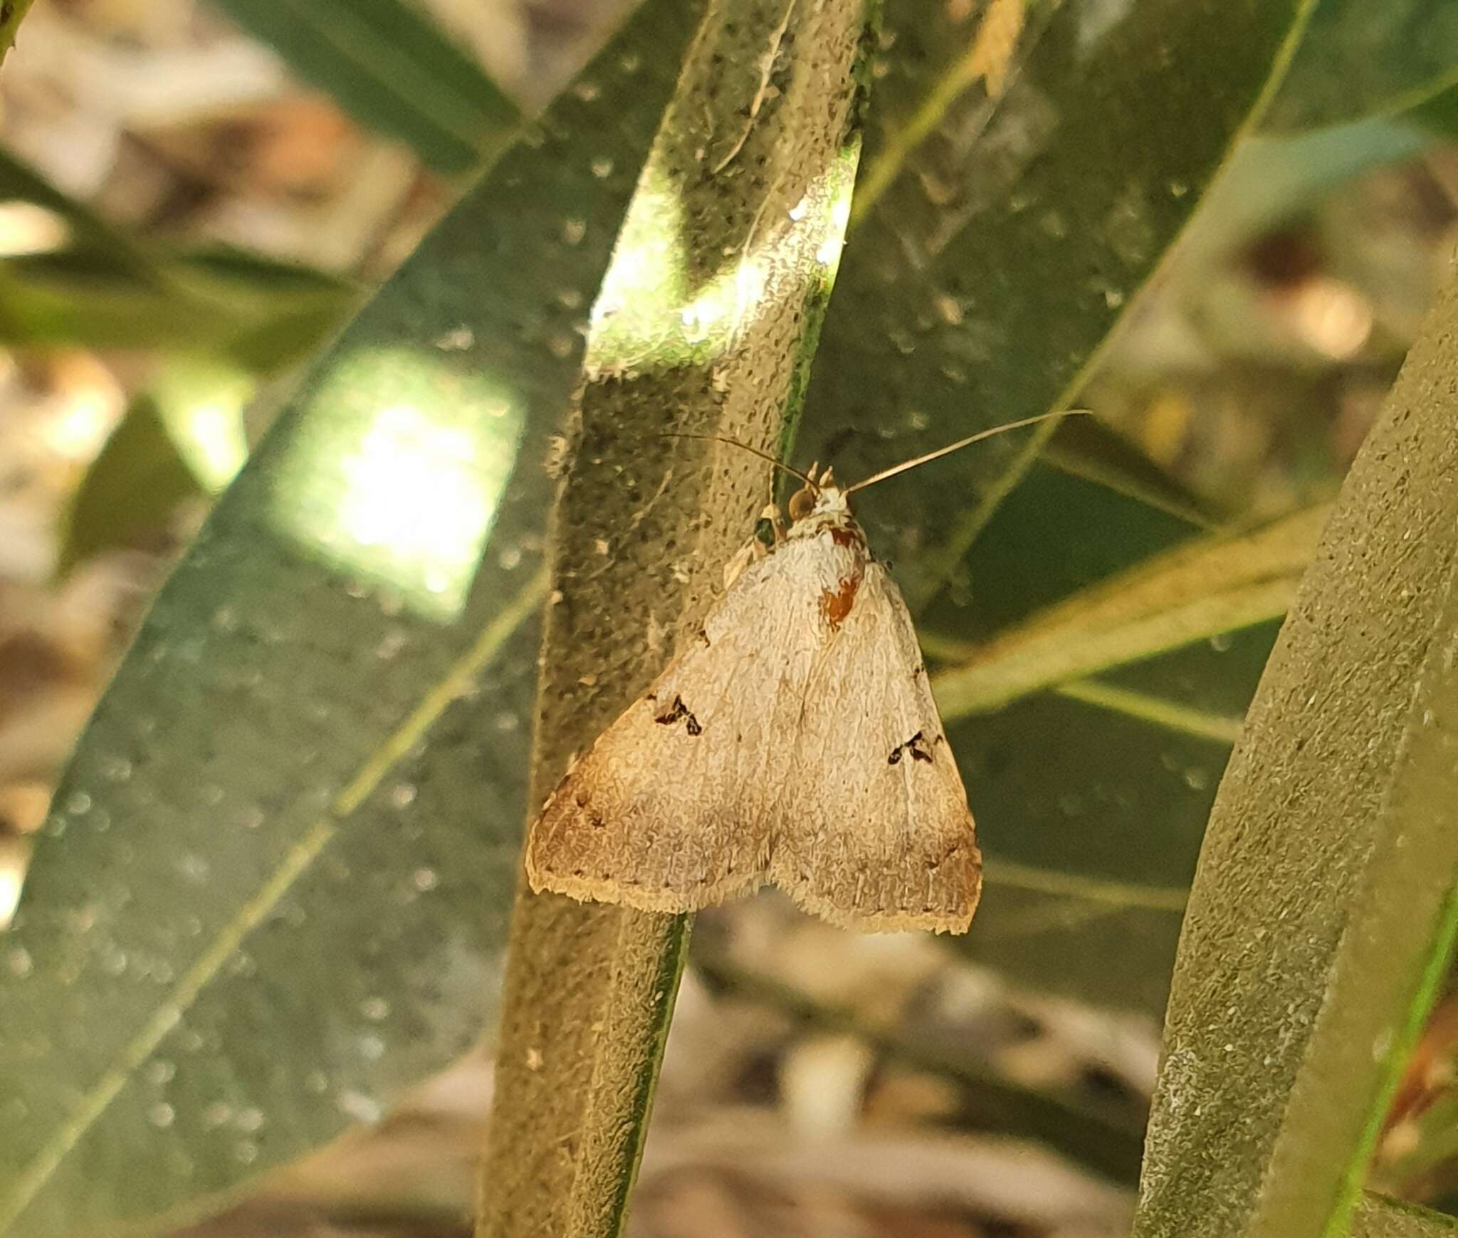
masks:
<path id="1" fill-rule="evenodd" d="M 1083 589 L 972 649 L 932 687 L 942 717 L 1000 709 L 1041 688 L 1137 662 L 1286 614 L 1327 506 L 1241 537 L 1182 544 Z"/>

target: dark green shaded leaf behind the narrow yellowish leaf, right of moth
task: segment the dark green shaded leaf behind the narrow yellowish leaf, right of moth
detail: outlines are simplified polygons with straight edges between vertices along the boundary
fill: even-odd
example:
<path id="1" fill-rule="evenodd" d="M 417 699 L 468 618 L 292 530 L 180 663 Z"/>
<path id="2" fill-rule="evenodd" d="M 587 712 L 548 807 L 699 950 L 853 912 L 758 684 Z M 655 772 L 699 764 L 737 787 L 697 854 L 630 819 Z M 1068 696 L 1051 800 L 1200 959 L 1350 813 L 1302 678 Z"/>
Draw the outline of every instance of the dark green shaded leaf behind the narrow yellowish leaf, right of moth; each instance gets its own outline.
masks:
<path id="1" fill-rule="evenodd" d="M 1145 564 L 1158 580 L 1165 564 L 1219 544 L 1178 516 L 1040 462 L 999 507 L 965 579 L 929 611 L 923 631 L 986 631 L 989 646 L 1006 634 L 1016 659 L 1015 634 L 1037 628 L 1040 614 L 1064 605 L 1077 614 L 1086 599 L 1115 598 L 1114 582 L 1143 579 Z M 1198 598 L 1187 601 L 1198 614 Z M 987 866 L 959 949 L 1038 992 L 1163 1009 L 1184 891 L 1274 626 L 1229 633 L 1215 621 L 1187 628 L 1181 639 L 1193 643 L 1171 649 L 1168 630 L 1146 623 L 1147 649 L 1126 646 L 1134 661 L 1075 680 L 1072 696 L 1034 693 L 991 713 L 946 717 Z M 1099 634 L 1098 626 L 1069 628 L 1069 643 L 1053 652 L 1061 658 Z M 929 655 L 952 652 L 946 642 L 924 643 Z M 1026 687 L 1034 691 L 1035 678 Z M 1101 965 L 1089 967 L 1091 958 Z"/>

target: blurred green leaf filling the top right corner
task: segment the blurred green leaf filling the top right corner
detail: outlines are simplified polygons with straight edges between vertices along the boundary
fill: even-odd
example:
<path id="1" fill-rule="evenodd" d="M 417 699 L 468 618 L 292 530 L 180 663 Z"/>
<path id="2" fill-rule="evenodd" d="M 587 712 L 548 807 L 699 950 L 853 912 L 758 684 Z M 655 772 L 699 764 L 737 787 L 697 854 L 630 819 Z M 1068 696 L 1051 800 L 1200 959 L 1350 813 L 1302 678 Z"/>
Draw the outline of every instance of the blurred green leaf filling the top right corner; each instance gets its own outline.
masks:
<path id="1" fill-rule="evenodd" d="M 1458 10 L 1446 0 L 1322 0 L 1266 118 L 1296 130 L 1403 111 L 1452 85 Z"/>

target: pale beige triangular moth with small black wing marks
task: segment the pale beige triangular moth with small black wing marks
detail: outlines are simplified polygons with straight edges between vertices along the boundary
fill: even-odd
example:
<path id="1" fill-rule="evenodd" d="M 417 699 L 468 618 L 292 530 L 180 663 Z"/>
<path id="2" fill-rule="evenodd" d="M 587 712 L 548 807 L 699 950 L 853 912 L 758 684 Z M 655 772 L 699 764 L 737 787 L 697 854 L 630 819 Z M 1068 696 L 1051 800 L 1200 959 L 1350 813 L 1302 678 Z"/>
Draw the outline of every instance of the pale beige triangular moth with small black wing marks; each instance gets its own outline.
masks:
<path id="1" fill-rule="evenodd" d="M 547 799 L 532 889 L 697 911 L 768 882 L 833 924 L 965 932 L 983 879 L 972 814 L 850 494 L 1045 416 L 844 490 L 830 468 L 796 472 L 789 529 L 770 509 L 773 548 L 751 540 L 685 647 Z"/>

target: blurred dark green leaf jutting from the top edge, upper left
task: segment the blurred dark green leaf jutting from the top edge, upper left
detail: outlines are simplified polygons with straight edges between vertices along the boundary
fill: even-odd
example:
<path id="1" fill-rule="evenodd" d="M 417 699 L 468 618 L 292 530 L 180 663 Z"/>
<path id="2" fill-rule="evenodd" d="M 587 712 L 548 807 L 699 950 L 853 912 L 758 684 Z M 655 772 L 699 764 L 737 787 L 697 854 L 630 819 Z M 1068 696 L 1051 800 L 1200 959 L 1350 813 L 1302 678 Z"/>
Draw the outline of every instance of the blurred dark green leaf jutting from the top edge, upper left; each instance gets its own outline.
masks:
<path id="1" fill-rule="evenodd" d="M 424 12 L 402 0 L 216 0 L 362 124 L 407 143 L 437 172 L 500 149 L 516 106 Z"/>

